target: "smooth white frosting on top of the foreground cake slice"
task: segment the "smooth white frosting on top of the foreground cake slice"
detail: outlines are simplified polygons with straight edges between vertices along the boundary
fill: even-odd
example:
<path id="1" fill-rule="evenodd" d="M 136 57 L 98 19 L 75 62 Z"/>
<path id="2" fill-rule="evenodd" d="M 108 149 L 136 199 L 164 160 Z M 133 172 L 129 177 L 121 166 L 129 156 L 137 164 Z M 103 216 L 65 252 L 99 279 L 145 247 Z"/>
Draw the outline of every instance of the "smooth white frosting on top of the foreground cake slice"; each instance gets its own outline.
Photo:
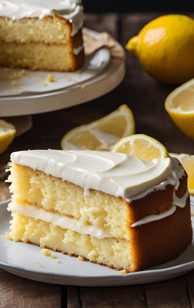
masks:
<path id="1" fill-rule="evenodd" d="M 150 162 L 124 153 L 50 149 L 13 152 L 11 161 L 79 185 L 85 195 L 91 188 L 127 199 L 165 179 L 179 185 L 170 158 Z"/>

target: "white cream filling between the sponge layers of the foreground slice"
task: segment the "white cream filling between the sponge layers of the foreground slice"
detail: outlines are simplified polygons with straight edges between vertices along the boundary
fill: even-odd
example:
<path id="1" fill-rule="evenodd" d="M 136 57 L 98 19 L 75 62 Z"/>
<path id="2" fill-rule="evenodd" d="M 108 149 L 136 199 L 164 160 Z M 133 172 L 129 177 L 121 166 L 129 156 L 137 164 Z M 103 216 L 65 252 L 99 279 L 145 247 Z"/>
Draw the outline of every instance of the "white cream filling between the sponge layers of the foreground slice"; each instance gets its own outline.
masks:
<path id="1" fill-rule="evenodd" d="M 86 225 L 83 222 L 80 222 L 77 218 L 71 218 L 60 213 L 49 212 L 34 205 L 11 202 L 7 209 L 12 213 L 18 213 L 34 219 L 50 222 L 62 229 L 70 229 L 80 234 L 89 234 L 90 236 L 99 239 L 112 237 L 111 234 L 106 233 L 103 228 L 96 227 L 95 225 Z"/>

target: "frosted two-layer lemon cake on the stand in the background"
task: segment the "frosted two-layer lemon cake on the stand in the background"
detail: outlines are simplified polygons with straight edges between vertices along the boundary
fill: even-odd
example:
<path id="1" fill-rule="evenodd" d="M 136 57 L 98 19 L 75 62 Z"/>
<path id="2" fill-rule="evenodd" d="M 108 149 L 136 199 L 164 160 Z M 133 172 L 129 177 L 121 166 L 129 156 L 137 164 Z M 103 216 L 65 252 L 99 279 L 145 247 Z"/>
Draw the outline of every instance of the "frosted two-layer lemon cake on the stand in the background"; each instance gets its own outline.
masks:
<path id="1" fill-rule="evenodd" d="M 84 61 L 81 0 L 0 0 L 0 65 L 75 71 Z"/>

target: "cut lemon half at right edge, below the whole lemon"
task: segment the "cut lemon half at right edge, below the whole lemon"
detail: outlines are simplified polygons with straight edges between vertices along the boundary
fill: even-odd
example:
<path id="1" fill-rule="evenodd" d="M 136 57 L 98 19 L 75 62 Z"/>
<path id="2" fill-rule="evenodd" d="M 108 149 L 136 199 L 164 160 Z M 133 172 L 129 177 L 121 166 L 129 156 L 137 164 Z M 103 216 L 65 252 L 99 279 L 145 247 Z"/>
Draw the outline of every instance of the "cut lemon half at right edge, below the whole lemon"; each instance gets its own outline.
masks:
<path id="1" fill-rule="evenodd" d="M 194 140 L 194 78 L 172 91 L 164 107 L 174 124 Z"/>

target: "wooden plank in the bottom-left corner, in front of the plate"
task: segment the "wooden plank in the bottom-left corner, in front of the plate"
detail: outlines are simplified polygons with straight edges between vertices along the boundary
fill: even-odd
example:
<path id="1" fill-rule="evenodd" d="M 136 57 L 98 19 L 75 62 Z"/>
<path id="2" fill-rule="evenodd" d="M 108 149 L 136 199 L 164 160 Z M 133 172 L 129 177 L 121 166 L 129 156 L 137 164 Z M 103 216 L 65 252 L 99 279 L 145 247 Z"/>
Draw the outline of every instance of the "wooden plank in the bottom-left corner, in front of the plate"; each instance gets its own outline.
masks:
<path id="1" fill-rule="evenodd" d="M 35 282 L 0 269 L 1 308 L 61 308 L 61 286 Z"/>

